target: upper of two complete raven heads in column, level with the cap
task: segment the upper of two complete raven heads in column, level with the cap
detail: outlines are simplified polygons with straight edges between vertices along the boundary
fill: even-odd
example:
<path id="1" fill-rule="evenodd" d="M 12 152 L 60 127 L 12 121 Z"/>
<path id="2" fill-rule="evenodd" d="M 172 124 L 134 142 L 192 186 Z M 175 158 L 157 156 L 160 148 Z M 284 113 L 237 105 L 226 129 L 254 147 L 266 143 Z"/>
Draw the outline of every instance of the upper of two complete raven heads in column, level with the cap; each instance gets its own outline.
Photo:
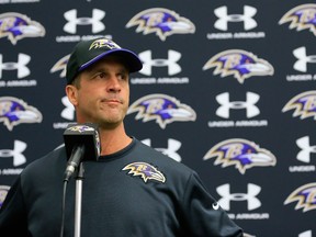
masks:
<path id="1" fill-rule="evenodd" d="M 233 75 L 239 83 L 252 76 L 273 75 L 274 68 L 252 53 L 241 49 L 224 50 L 213 56 L 203 66 L 203 70 L 215 67 L 214 75 L 227 77 Z"/>

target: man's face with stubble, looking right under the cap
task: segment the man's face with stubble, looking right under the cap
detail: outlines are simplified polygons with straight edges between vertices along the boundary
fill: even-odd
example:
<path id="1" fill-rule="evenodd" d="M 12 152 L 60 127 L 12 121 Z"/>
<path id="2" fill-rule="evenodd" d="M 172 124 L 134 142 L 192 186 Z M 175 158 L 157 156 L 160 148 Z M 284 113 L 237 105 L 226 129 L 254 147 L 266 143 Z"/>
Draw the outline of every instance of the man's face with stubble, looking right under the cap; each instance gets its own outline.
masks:
<path id="1" fill-rule="evenodd" d="M 70 86 L 74 90 L 70 101 L 76 108 L 78 123 L 98 123 L 106 128 L 122 124 L 129 102 L 126 67 L 112 57 L 105 57 L 79 77 L 80 86 Z"/>

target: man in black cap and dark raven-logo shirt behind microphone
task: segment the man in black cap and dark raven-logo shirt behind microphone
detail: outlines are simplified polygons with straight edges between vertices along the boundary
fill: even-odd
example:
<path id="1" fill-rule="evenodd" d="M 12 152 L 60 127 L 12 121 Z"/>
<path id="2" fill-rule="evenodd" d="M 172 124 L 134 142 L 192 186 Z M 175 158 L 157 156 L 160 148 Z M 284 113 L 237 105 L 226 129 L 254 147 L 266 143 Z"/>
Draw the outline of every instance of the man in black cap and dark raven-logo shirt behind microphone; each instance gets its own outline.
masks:
<path id="1" fill-rule="evenodd" d="M 106 38 L 81 42 L 67 65 L 66 93 L 78 123 L 99 126 L 101 156 L 83 161 L 82 237 L 242 236 L 198 174 L 125 133 L 131 72 L 142 61 Z M 56 237 L 61 225 L 65 147 L 27 166 L 0 212 L 0 235 Z M 64 236 L 74 236 L 75 180 Z"/>

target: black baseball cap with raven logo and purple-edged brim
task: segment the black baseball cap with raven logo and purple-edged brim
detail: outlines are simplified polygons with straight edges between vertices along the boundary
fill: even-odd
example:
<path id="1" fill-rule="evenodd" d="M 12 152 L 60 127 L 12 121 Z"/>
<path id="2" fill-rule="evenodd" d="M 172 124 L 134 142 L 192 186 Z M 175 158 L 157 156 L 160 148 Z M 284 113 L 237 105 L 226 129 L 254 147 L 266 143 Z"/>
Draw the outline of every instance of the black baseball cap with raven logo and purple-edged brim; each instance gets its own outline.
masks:
<path id="1" fill-rule="evenodd" d="M 67 63 L 67 83 L 71 83 L 80 71 L 108 55 L 117 55 L 127 66 L 129 72 L 139 71 L 143 68 L 139 57 L 134 52 L 120 47 L 106 37 L 82 41 L 75 46 Z"/>

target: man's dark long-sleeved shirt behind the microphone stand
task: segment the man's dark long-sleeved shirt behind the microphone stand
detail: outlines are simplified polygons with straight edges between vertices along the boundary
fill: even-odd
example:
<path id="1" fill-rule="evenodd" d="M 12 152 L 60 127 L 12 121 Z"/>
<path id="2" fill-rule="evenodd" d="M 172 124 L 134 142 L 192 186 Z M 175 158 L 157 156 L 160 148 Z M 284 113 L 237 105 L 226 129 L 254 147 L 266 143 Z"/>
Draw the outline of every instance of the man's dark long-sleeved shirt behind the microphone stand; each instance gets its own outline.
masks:
<path id="1" fill-rule="evenodd" d="M 1 208 L 1 236 L 59 236 L 66 160 L 63 147 L 23 170 Z M 124 170 L 139 163 L 138 173 Z M 82 237 L 242 236 L 221 207 L 213 207 L 215 200 L 194 171 L 137 139 L 83 167 Z M 151 168 L 150 179 L 140 174 L 145 168 Z M 65 237 L 74 236 L 75 192 L 71 179 Z"/>

